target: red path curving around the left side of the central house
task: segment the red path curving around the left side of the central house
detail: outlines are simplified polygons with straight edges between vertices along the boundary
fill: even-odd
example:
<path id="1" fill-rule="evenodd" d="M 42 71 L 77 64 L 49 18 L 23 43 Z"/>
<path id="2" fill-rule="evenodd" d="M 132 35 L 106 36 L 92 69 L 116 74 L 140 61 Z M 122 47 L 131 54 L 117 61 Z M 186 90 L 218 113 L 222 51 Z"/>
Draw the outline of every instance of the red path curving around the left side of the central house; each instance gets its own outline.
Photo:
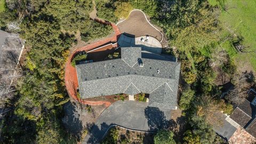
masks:
<path id="1" fill-rule="evenodd" d="M 101 21 L 101 23 L 105 23 L 105 22 Z M 66 68 L 65 68 L 65 85 L 66 85 L 66 89 L 68 91 L 68 94 L 71 98 L 73 98 L 75 100 L 78 100 L 77 97 L 76 97 L 76 90 L 77 90 L 77 87 L 78 87 L 76 68 L 71 66 L 71 59 L 78 52 L 81 52 L 81 51 L 86 51 L 87 52 L 87 51 L 93 50 L 97 47 L 100 47 L 102 45 L 117 42 L 118 36 L 121 35 L 121 33 L 120 33 L 118 27 L 115 24 L 111 23 L 110 25 L 113 27 L 113 29 L 115 31 L 115 35 L 113 37 L 102 39 L 101 41 L 98 41 L 98 42 L 95 42 L 95 43 L 92 43 L 92 44 L 89 44 L 89 45 L 86 45 L 86 46 L 83 46 L 83 47 L 79 47 L 78 49 L 76 49 L 75 51 L 73 51 L 70 54 L 70 56 L 67 60 L 67 63 L 66 63 Z M 107 49 L 113 49 L 114 47 L 117 47 L 117 45 L 104 46 L 104 47 L 102 47 L 102 48 L 100 48 L 96 51 L 105 51 Z M 105 104 L 106 107 L 111 105 L 111 103 L 108 102 L 108 101 L 81 100 L 81 102 L 85 105 L 103 105 L 103 104 Z"/>

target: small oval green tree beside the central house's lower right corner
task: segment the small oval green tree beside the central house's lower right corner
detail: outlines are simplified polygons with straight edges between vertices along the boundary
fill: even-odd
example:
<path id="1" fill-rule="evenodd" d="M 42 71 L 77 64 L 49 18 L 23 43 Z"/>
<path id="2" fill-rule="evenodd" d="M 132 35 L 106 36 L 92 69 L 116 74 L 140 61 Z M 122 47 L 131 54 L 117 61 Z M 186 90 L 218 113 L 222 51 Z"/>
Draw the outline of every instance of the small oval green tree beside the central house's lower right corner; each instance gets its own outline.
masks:
<path id="1" fill-rule="evenodd" d="M 180 98 L 180 108 L 181 110 L 187 110 L 190 108 L 190 103 L 194 99 L 195 91 L 191 89 L 187 89 L 184 92 L 182 92 L 181 98 Z"/>

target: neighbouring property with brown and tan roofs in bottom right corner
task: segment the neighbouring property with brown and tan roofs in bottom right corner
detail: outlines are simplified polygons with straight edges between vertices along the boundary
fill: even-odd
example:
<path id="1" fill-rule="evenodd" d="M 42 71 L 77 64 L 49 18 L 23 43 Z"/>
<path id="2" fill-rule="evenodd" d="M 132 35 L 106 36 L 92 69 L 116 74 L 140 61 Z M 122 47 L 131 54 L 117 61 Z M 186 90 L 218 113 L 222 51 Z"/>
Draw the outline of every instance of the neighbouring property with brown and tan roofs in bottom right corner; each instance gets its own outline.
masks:
<path id="1" fill-rule="evenodd" d="M 214 127 L 223 139 L 230 142 L 253 142 L 256 139 L 256 92 L 250 89 L 244 99 L 230 116 L 223 115 L 221 127 Z"/>

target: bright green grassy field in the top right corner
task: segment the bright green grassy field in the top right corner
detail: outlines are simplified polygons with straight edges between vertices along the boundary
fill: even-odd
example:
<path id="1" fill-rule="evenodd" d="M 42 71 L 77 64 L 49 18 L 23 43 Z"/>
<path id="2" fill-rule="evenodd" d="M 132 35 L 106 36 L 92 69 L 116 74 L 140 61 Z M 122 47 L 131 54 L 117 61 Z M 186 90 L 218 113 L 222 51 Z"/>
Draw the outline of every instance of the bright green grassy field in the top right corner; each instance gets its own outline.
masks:
<path id="1" fill-rule="evenodd" d="M 209 0 L 209 2 L 222 8 L 219 18 L 223 28 L 222 37 L 227 35 L 243 37 L 242 44 L 246 47 L 246 52 L 236 53 L 229 41 L 221 43 L 221 47 L 235 60 L 238 67 L 243 65 L 244 70 L 256 71 L 256 0 L 220 2 Z"/>

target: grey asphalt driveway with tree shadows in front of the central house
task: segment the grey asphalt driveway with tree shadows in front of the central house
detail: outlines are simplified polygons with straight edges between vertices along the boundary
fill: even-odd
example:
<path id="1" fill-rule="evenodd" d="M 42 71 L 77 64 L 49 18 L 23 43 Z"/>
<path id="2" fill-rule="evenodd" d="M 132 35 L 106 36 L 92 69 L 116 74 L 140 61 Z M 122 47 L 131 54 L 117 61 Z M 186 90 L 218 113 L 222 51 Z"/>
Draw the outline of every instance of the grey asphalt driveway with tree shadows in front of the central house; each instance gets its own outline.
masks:
<path id="1" fill-rule="evenodd" d="M 83 143 L 99 143 L 111 125 L 132 130 L 156 132 L 170 124 L 171 110 L 148 107 L 146 102 L 117 101 L 105 109 Z"/>

